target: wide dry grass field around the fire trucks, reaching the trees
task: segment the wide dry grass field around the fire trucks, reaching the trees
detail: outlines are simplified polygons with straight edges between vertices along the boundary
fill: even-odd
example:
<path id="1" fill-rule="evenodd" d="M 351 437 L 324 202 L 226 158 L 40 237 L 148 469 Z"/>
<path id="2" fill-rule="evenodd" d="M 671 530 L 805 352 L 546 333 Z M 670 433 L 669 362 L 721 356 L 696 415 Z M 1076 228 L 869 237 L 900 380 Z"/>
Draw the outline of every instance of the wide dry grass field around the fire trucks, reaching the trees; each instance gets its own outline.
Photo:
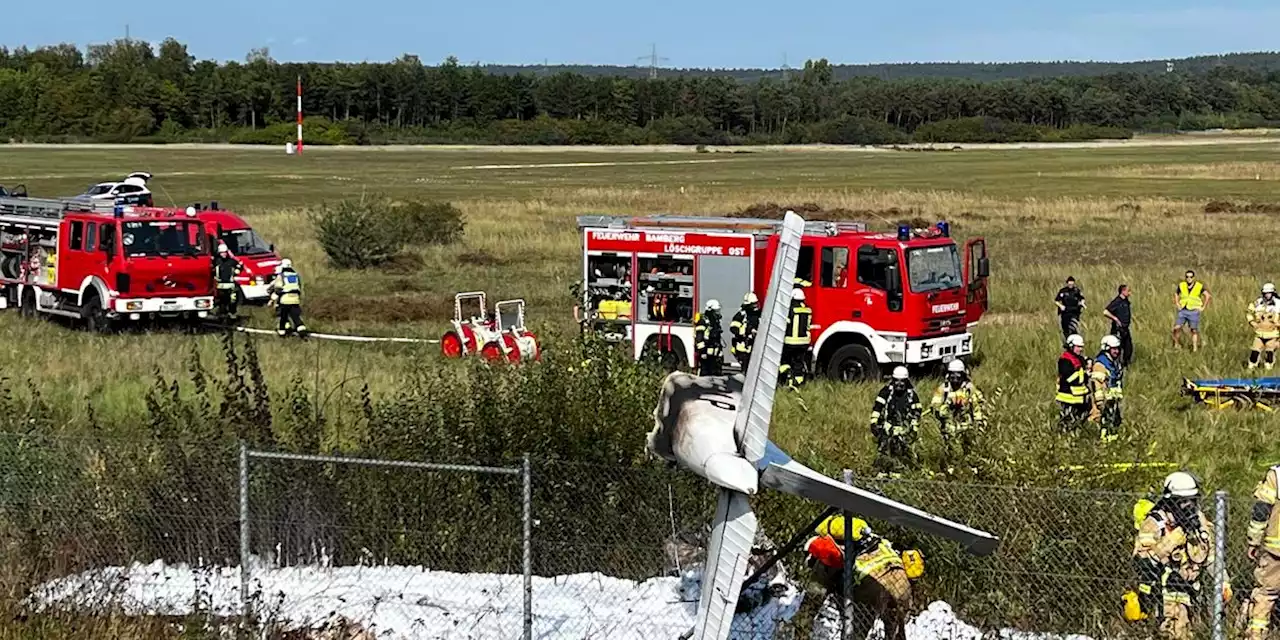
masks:
<path id="1" fill-rule="evenodd" d="M 1060 150 L 856 152 L 762 150 L 520 151 L 308 147 L 285 156 L 265 148 L 33 148 L 0 152 L 0 183 L 32 195 L 69 195 L 129 170 L 155 174 L 157 202 L 218 200 L 298 265 L 312 330 L 438 337 L 458 291 L 524 297 L 530 323 L 566 334 L 568 287 L 577 269 L 573 216 L 584 212 L 718 214 L 773 201 L 867 210 L 890 227 L 899 218 L 948 219 L 957 236 L 986 236 L 992 255 L 992 310 L 978 329 L 977 383 L 993 416 L 982 444 L 992 480 L 1046 481 L 1074 461 L 1167 461 L 1190 465 L 1216 488 L 1243 492 L 1280 457 L 1272 417 L 1211 415 L 1178 397 L 1183 376 L 1243 372 L 1251 339 L 1244 306 L 1280 276 L 1267 214 L 1206 214 L 1210 201 L 1280 202 L 1276 141 L 1206 146 Z M 384 191 L 449 200 L 466 214 L 460 246 L 422 248 L 421 264 L 387 271 L 329 269 L 305 211 L 325 201 Z M 897 211 L 893 211 L 893 210 Z M 1266 207 L 1263 207 L 1266 209 Z M 908 211 L 914 210 L 914 211 Z M 1172 351 L 1172 287 L 1194 268 L 1213 294 L 1204 348 Z M 1097 349 L 1100 314 L 1120 282 L 1134 288 L 1138 356 L 1126 379 L 1124 438 L 1106 447 L 1056 435 L 1053 360 L 1060 351 L 1053 292 L 1075 275 L 1089 310 L 1085 338 Z M 252 323 L 268 326 L 257 310 Z M 83 426 L 84 398 L 100 419 L 128 430 L 143 415 L 151 374 L 177 375 L 196 348 L 218 358 L 215 337 L 92 337 L 58 324 L 0 315 L 0 370 L 33 380 L 61 407 L 67 429 Z M 438 366 L 434 348 L 262 340 L 269 383 L 390 392 L 415 367 Z M 346 383 L 346 384 L 342 384 Z M 934 381 L 920 381 L 922 394 Z M 874 385 L 814 384 L 809 411 L 788 398 L 776 436 L 818 466 L 867 470 L 865 426 Z M 344 402 L 339 393 L 334 402 Z M 124 425 L 124 426 L 122 426 Z M 641 429 L 636 425 L 636 445 Z M 925 421 L 925 449 L 936 449 Z M 1085 474 L 1080 485 L 1146 486 L 1160 471 Z"/>

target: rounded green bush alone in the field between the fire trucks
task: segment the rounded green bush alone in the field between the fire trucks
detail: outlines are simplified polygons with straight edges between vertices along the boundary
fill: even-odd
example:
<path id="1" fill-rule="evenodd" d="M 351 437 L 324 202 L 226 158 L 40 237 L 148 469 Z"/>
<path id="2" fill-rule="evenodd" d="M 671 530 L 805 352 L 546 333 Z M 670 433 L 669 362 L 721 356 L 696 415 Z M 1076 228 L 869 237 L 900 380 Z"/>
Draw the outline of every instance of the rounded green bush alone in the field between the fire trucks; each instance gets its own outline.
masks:
<path id="1" fill-rule="evenodd" d="M 462 238 L 462 211 L 449 202 L 393 201 L 384 195 L 321 205 L 310 214 L 316 241 L 338 269 L 387 264 L 407 246 L 452 244 Z"/>

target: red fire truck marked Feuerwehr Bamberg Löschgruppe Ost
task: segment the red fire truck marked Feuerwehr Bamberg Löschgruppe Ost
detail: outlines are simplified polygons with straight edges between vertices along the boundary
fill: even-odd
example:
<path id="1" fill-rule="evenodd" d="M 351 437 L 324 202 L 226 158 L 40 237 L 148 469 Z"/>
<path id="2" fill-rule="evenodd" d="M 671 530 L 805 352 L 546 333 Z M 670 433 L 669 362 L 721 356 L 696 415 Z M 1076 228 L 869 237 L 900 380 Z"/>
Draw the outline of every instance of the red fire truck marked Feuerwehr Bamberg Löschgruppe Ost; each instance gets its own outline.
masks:
<path id="1" fill-rule="evenodd" d="M 695 366 L 694 319 L 708 300 L 728 324 L 746 292 L 760 300 L 777 252 L 780 220 L 579 216 L 582 300 L 579 320 L 634 356 Z M 855 380 L 897 364 L 973 353 L 987 310 L 989 262 L 982 238 L 957 247 L 943 223 L 869 232 L 865 223 L 809 221 L 796 268 L 813 308 L 813 366 Z M 726 357 L 728 367 L 736 367 Z"/>

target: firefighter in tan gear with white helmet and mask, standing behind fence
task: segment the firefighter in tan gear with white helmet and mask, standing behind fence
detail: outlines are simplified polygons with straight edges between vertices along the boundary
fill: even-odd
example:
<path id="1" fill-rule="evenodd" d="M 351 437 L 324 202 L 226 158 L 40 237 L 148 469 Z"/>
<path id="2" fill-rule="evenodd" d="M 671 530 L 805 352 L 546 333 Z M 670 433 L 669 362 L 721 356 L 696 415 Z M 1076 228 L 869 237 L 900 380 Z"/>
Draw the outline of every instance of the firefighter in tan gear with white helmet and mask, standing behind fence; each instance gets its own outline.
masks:
<path id="1" fill-rule="evenodd" d="M 1142 517 L 1133 545 L 1143 613 L 1160 631 L 1189 639 L 1201 604 L 1201 573 L 1213 562 L 1213 525 L 1199 509 L 1199 483 L 1184 471 L 1165 477 L 1160 500 Z"/>

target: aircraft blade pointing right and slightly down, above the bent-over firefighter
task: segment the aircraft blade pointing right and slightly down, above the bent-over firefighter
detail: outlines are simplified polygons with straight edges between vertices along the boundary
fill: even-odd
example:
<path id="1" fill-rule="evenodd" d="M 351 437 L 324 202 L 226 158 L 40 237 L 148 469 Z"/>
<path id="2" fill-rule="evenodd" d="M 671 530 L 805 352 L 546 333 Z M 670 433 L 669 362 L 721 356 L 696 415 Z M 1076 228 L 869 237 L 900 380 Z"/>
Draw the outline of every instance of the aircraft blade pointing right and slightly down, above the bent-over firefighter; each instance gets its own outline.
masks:
<path id="1" fill-rule="evenodd" d="M 782 454 L 777 447 L 771 447 L 769 453 Z M 1000 545 L 1000 539 L 986 531 L 838 483 L 790 458 L 783 461 L 776 457 L 769 461 L 760 474 L 760 484 L 829 507 L 955 540 L 975 556 L 989 556 Z"/>

